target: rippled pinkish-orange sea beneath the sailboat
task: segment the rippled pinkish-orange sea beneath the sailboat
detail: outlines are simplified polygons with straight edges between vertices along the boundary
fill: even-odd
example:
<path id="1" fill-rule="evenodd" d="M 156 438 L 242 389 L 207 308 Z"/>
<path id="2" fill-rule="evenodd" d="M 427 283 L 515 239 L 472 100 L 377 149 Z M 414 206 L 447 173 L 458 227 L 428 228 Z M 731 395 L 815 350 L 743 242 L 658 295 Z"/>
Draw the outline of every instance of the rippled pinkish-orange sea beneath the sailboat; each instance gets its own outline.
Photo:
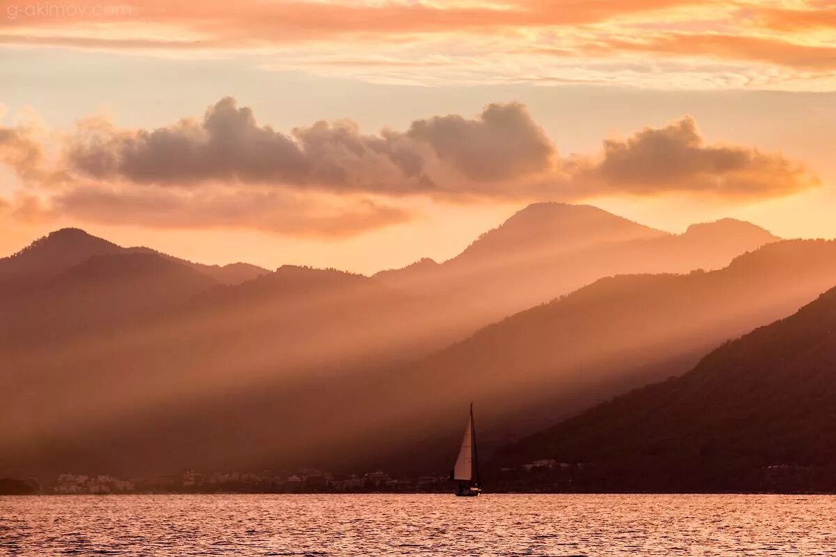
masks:
<path id="1" fill-rule="evenodd" d="M 826 495 L 0 497 L 0 555 L 830 555 Z"/>

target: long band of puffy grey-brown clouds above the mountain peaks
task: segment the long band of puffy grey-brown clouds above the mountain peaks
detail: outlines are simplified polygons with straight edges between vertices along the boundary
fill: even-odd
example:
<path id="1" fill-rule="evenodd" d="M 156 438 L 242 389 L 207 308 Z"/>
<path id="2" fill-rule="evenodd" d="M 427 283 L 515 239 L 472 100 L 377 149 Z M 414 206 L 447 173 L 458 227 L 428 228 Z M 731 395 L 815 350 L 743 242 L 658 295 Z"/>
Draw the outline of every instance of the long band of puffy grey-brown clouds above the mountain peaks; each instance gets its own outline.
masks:
<path id="1" fill-rule="evenodd" d="M 604 142 L 603 153 L 561 159 L 522 104 L 490 104 L 474 118 L 416 120 L 404 132 L 362 134 L 348 120 L 282 134 L 226 98 L 201 122 L 184 119 L 125 131 L 99 120 L 80 125 L 69 165 L 99 180 L 194 187 L 273 185 L 341 194 L 573 200 L 663 192 L 727 198 L 788 195 L 817 185 L 780 154 L 706 145 L 682 119 Z"/>

